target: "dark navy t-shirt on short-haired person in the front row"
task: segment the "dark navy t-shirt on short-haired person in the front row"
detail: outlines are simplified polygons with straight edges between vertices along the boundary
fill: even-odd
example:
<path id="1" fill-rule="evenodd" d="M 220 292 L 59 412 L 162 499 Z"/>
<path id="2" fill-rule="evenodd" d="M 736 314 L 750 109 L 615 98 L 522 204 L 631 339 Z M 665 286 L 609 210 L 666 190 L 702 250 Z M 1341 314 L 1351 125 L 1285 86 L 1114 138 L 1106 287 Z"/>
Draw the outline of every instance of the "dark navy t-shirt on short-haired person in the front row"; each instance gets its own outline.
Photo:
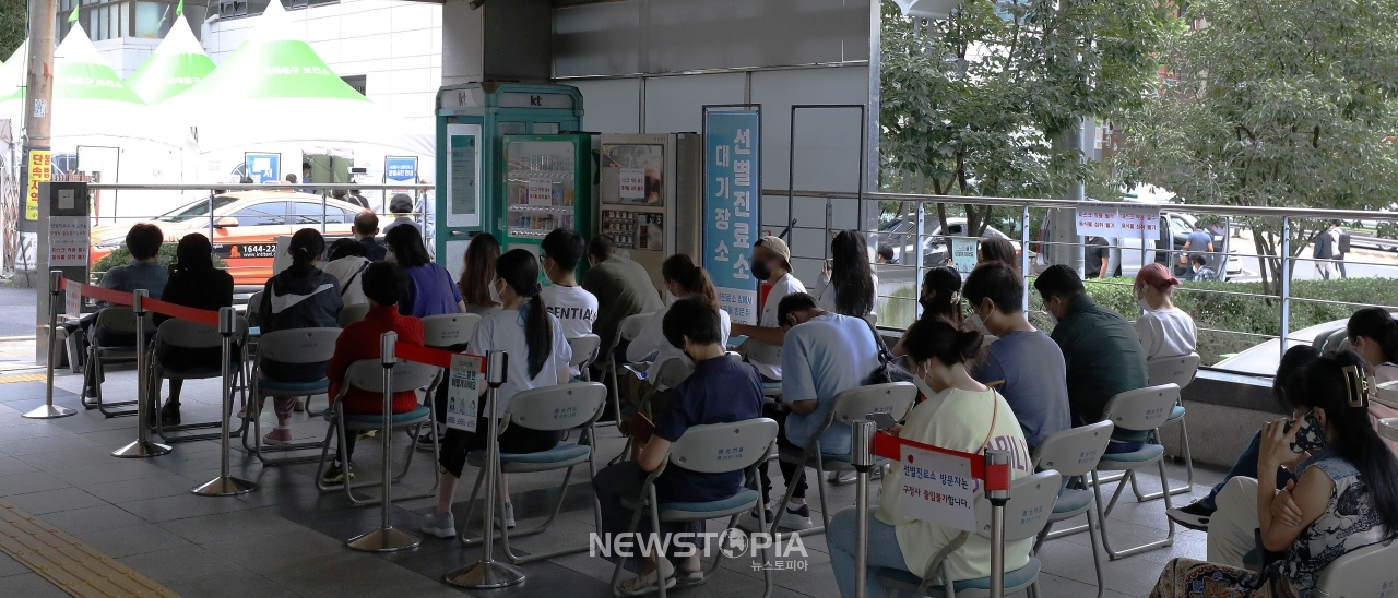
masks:
<path id="1" fill-rule="evenodd" d="M 656 436 L 679 440 L 689 426 L 733 423 L 762 416 L 762 380 L 758 370 L 727 356 L 705 359 L 675 387 L 670 409 L 656 414 Z M 723 500 L 738 492 L 742 472 L 696 474 L 675 464 L 656 478 L 660 500 Z"/>

